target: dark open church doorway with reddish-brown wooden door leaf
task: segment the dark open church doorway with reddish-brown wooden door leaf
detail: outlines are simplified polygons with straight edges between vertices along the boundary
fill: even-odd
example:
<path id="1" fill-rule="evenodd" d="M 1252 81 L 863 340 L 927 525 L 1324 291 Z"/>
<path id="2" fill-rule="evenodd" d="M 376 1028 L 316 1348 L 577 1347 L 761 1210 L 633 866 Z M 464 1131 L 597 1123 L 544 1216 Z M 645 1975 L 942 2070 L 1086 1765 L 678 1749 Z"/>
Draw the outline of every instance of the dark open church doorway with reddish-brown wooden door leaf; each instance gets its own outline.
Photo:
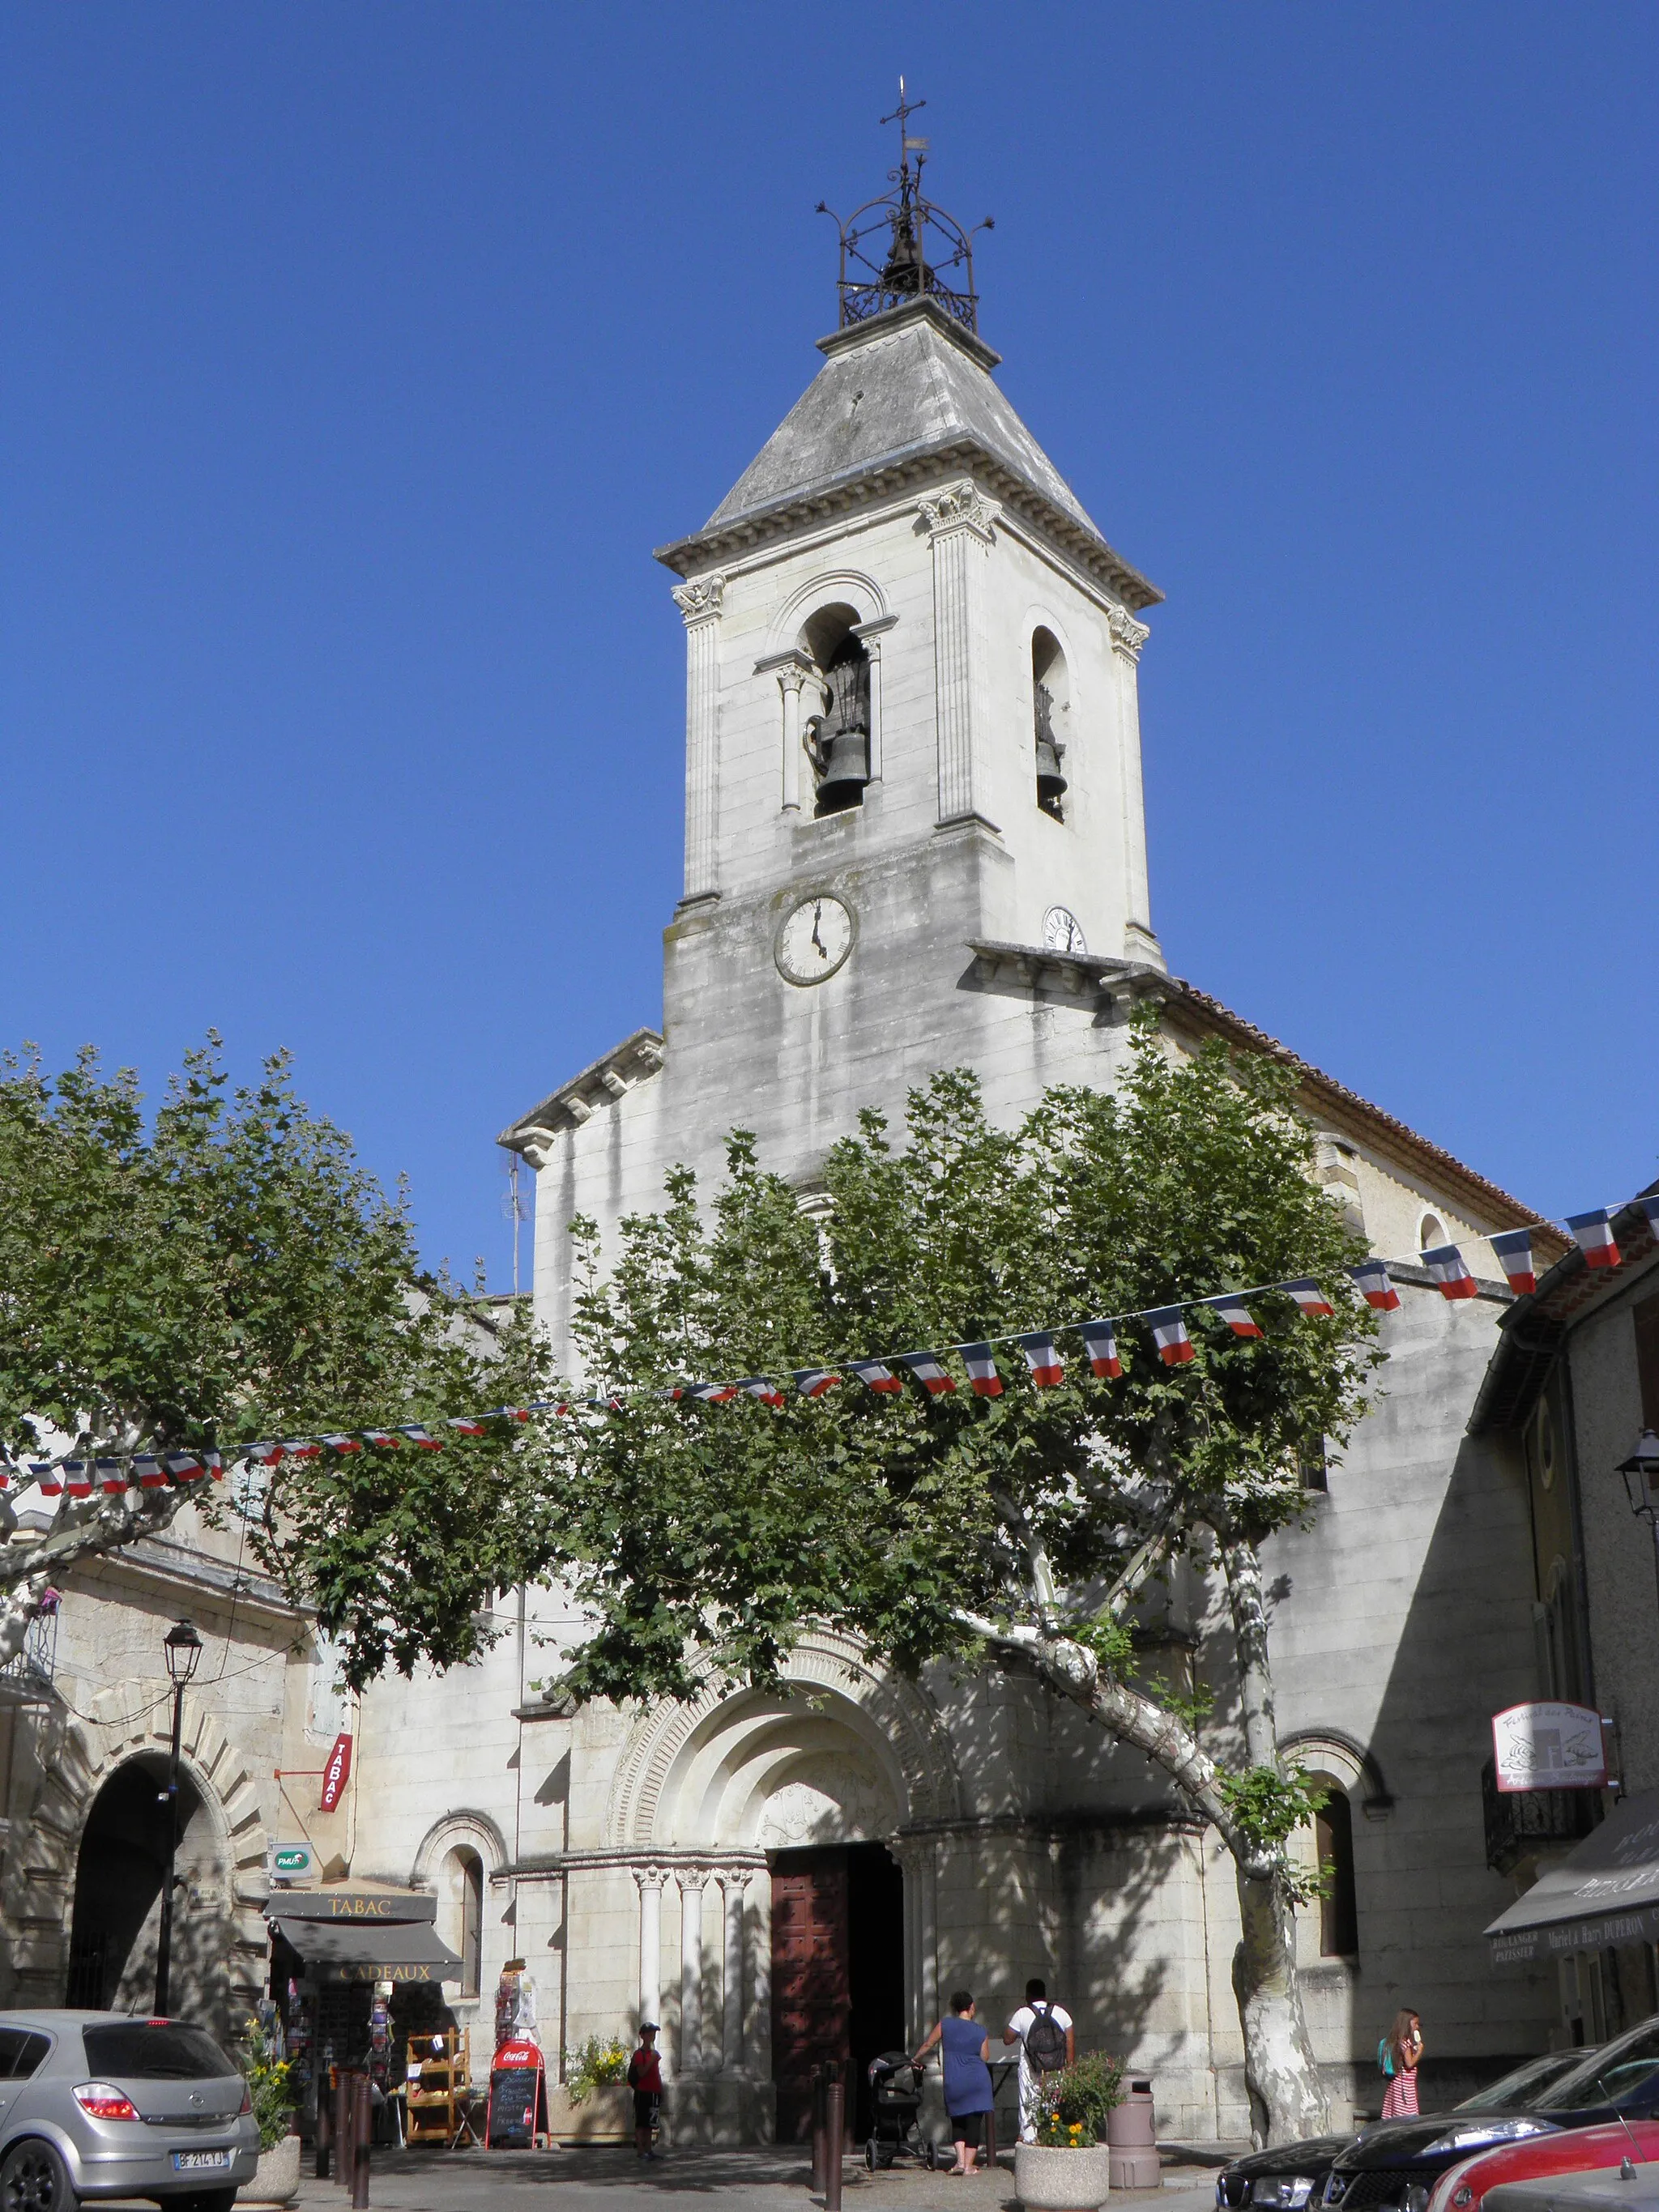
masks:
<path id="1" fill-rule="evenodd" d="M 872 2132 L 869 2062 L 905 2048 L 905 1876 L 883 1843 L 770 1851 L 772 2079 L 781 2143 L 812 2132 L 812 2068 L 852 2062 L 847 2119 Z"/>

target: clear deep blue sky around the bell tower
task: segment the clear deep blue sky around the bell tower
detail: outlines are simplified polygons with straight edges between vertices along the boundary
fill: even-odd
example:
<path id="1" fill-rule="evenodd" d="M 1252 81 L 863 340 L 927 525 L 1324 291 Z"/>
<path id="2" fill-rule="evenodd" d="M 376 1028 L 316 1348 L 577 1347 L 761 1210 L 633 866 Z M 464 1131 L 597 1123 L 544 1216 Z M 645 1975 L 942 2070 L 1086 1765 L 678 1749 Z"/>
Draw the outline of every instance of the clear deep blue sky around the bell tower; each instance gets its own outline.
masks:
<path id="1" fill-rule="evenodd" d="M 1544 1210 L 1659 1172 L 1659 13 L 0 9 L 0 1040 L 276 1044 L 429 1256 L 659 1013 L 695 529 L 896 73 L 1168 593 L 1177 973 Z"/>

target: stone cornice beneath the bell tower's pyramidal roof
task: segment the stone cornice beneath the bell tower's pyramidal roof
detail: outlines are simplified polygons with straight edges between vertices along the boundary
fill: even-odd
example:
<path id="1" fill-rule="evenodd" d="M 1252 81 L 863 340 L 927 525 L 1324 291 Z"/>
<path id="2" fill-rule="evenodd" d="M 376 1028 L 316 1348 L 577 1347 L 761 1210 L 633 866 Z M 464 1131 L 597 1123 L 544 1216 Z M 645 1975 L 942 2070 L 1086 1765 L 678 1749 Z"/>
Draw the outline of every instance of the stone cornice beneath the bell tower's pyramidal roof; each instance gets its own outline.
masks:
<path id="1" fill-rule="evenodd" d="M 1046 538 L 1057 553 L 1075 562 L 1084 575 L 1099 584 L 1113 599 L 1121 599 L 1130 611 L 1157 606 L 1164 593 L 1150 584 L 1139 568 L 1115 553 L 1104 538 L 1082 529 L 1064 509 L 1046 500 L 1022 476 L 989 453 L 978 440 L 947 438 L 940 445 L 918 447 L 876 469 L 849 469 L 845 478 L 830 478 L 810 491 L 792 493 L 772 507 L 759 507 L 748 515 L 677 538 L 657 546 L 657 560 L 675 575 L 706 573 L 719 562 L 730 562 L 759 546 L 790 538 L 807 524 L 838 520 L 854 509 L 894 493 L 920 491 L 929 484 L 949 482 L 953 473 L 971 471 L 995 498 L 1020 515 L 1029 529 Z"/>

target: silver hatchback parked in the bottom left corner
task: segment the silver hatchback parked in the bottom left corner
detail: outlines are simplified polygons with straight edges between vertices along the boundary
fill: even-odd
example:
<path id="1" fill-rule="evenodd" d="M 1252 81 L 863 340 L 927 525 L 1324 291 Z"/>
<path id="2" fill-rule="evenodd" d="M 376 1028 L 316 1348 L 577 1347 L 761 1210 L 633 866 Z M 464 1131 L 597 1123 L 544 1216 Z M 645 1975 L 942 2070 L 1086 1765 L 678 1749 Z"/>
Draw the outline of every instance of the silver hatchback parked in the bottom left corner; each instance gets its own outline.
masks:
<path id="1" fill-rule="evenodd" d="M 219 2044 L 181 2020 L 0 2013 L 0 2212 L 148 2197 L 230 2212 L 259 2126 Z"/>

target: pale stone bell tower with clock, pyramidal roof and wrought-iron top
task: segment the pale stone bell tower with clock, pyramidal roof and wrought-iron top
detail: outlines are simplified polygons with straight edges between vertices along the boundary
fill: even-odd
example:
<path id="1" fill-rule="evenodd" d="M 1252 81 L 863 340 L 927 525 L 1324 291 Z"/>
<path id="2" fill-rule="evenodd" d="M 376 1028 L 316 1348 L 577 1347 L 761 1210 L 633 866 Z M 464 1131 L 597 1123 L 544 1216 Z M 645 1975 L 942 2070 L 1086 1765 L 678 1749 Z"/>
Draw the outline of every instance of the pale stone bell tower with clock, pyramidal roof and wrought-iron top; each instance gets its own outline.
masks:
<path id="1" fill-rule="evenodd" d="M 686 1075 L 708 1053 L 712 1093 L 741 1064 L 750 1121 L 770 1119 L 763 1071 L 792 1071 L 785 1152 L 894 1102 L 896 1077 L 902 1095 L 933 1066 L 1006 1064 L 987 947 L 1015 960 L 1002 982 L 1053 987 L 1084 1024 L 1110 971 L 1164 964 L 1137 699 L 1159 593 L 998 389 L 971 234 L 911 150 L 841 223 L 818 376 L 657 555 L 686 617 L 668 1053 Z M 1029 956 L 1066 967 L 1040 978 Z M 1035 1029 L 1053 1042 L 1053 1018 Z"/>

